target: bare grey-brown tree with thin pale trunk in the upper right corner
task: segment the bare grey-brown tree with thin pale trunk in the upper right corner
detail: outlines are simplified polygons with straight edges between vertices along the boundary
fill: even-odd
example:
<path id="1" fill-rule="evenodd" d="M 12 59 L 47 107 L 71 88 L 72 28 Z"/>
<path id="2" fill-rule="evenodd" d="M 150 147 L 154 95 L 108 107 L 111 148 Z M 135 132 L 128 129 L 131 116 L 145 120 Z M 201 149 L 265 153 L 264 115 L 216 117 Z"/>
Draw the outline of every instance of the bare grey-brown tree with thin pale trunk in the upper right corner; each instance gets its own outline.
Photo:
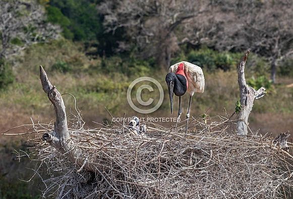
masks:
<path id="1" fill-rule="evenodd" d="M 226 0 L 217 5 L 217 14 L 208 26 L 215 47 L 234 52 L 250 49 L 265 57 L 275 83 L 277 62 L 293 54 L 293 2 Z"/>

